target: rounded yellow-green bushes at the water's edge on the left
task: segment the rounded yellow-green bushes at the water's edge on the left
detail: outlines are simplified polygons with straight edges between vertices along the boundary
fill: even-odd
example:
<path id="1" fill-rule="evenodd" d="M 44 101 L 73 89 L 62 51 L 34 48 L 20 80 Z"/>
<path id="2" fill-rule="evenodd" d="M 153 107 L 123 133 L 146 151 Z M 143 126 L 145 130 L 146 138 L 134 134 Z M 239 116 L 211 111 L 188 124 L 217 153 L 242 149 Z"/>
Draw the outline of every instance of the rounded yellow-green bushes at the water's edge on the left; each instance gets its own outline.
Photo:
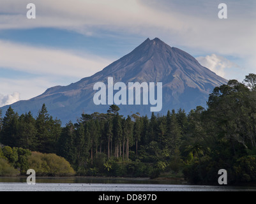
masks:
<path id="1" fill-rule="evenodd" d="M 0 175 L 12 176 L 20 173 L 26 175 L 28 169 L 36 171 L 36 175 L 69 176 L 75 175 L 70 163 L 56 154 L 42 154 L 20 147 L 5 146 L 0 149 Z"/>

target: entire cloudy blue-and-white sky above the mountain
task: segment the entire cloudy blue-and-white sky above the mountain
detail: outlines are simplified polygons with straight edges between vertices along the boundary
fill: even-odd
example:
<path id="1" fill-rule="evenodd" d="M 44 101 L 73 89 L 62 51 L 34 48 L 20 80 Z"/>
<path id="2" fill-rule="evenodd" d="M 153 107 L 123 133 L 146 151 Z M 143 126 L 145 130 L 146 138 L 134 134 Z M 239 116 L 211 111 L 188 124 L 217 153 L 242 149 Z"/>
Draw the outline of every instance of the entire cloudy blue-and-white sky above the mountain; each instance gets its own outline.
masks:
<path id="1" fill-rule="evenodd" d="M 27 4 L 36 18 L 27 18 Z M 240 82 L 256 73 L 256 1 L 1 0 L 0 106 L 89 77 L 146 38 Z"/>

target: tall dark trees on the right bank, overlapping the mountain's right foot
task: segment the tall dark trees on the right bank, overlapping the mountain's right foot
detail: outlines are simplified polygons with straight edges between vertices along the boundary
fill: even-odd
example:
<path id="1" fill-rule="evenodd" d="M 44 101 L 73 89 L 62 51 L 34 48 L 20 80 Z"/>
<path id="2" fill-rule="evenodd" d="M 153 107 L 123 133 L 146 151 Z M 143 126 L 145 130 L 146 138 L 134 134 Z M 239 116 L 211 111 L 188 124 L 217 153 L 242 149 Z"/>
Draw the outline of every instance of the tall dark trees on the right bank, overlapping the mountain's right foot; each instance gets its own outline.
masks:
<path id="1" fill-rule="evenodd" d="M 208 109 L 190 113 L 193 132 L 183 147 L 193 156 L 183 171 L 190 182 L 216 184 L 221 168 L 229 172 L 229 184 L 255 182 L 255 75 L 246 76 L 245 82 L 248 87 L 237 80 L 216 87 Z"/>

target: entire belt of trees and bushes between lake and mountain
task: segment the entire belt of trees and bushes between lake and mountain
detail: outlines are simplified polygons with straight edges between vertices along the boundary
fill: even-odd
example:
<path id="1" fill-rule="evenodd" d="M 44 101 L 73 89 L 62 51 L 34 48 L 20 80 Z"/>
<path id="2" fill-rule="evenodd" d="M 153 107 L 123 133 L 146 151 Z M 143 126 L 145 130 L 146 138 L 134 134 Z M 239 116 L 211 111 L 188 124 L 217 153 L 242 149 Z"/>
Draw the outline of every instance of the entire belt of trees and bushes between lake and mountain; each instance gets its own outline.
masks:
<path id="1" fill-rule="evenodd" d="M 255 137 L 252 73 L 243 82 L 215 87 L 207 108 L 189 113 L 180 108 L 124 117 L 111 105 L 107 113 L 82 113 L 75 124 L 61 126 L 45 104 L 36 117 L 10 106 L 5 115 L 0 112 L 0 175 L 4 165 L 24 174 L 34 164 L 41 175 L 179 177 L 190 184 L 218 184 L 218 170 L 225 169 L 229 184 L 255 182 Z M 53 158 L 65 172 L 49 167 Z"/>

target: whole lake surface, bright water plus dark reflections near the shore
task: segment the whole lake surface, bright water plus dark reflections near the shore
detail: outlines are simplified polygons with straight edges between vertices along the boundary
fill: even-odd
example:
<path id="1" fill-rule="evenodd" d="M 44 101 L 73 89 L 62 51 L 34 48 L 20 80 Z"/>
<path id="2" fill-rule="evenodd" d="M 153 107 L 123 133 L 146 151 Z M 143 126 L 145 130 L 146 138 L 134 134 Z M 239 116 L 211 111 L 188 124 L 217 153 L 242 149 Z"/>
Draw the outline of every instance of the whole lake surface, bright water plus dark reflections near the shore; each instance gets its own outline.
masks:
<path id="1" fill-rule="evenodd" d="M 170 180 L 84 177 L 36 178 L 35 185 L 28 185 L 26 177 L 0 177 L 0 191 L 256 191 L 256 186 L 195 186 L 173 184 Z"/>

